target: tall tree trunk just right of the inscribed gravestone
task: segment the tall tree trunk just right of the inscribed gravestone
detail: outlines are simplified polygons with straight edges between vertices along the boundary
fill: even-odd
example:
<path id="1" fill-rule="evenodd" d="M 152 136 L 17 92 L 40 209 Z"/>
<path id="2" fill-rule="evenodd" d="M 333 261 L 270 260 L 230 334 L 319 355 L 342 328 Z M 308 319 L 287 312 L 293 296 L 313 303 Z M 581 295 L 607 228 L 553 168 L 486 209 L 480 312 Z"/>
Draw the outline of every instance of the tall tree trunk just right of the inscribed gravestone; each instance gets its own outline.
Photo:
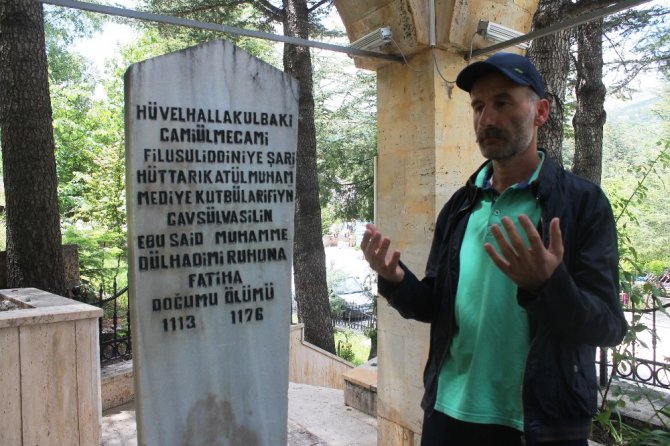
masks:
<path id="1" fill-rule="evenodd" d="M 284 35 L 307 39 L 306 0 L 284 0 L 284 11 Z M 326 284 L 326 254 L 321 238 L 312 58 L 309 48 L 284 45 L 284 71 L 295 77 L 300 86 L 293 244 L 296 301 L 299 317 L 305 323 L 305 340 L 335 353 Z"/>

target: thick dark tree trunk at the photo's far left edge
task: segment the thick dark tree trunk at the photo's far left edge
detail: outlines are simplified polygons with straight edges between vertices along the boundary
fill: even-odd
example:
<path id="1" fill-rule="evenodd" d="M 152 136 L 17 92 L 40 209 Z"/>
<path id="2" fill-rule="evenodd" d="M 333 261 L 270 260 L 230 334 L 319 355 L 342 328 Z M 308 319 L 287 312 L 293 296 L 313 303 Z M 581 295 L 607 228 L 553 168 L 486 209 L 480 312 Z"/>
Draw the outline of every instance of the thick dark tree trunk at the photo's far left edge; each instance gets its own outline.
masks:
<path id="1" fill-rule="evenodd" d="M 65 295 L 42 4 L 0 2 L 7 285 Z"/>

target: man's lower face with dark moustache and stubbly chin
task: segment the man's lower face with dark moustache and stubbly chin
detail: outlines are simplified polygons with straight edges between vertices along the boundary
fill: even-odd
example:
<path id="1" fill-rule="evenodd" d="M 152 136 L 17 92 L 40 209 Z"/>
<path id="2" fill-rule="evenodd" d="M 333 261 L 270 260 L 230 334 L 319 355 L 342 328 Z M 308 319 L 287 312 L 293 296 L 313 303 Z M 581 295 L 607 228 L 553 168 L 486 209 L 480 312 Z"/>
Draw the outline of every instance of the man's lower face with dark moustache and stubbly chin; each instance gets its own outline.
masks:
<path id="1" fill-rule="evenodd" d="M 486 138 L 496 138 L 495 145 L 485 145 L 482 141 Z M 531 125 L 523 122 L 512 123 L 512 131 L 506 132 L 498 127 L 486 127 L 477 133 L 477 143 L 484 158 L 495 161 L 504 161 L 514 158 L 528 149 L 533 139 Z"/>

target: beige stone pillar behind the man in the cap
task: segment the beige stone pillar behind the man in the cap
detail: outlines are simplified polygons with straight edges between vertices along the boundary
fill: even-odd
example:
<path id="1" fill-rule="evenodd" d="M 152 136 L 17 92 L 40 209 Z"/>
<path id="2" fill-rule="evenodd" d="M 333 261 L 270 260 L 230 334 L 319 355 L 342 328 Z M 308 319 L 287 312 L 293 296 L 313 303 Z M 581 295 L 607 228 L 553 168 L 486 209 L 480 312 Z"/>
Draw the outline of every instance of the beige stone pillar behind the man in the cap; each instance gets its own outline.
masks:
<path id="1" fill-rule="evenodd" d="M 436 50 L 450 81 L 466 65 L 462 55 Z M 451 194 L 483 162 L 471 120 L 470 97 L 449 91 L 429 50 L 409 65 L 377 71 L 378 152 L 375 222 L 423 277 L 437 215 Z M 402 319 L 379 300 L 378 444 L 419 444 L 423 368 L 429 327 Z"/>

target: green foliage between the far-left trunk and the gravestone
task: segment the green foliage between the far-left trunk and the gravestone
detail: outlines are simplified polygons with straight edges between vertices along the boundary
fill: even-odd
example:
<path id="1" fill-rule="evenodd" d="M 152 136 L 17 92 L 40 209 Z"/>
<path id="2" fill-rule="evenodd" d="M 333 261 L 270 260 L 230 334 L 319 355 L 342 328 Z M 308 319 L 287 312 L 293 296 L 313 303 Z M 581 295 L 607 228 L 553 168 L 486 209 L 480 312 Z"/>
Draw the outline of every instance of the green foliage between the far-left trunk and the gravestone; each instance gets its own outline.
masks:
<path id="1" fill-rule="evenodd" d="M 100 79 L 72 52 L 99 30 L 98 15 L 47 7 L 45 33 L 64 243 L 79 245 L 87 287 L 125 277 L 123 97 L 96 98 Z"/>

